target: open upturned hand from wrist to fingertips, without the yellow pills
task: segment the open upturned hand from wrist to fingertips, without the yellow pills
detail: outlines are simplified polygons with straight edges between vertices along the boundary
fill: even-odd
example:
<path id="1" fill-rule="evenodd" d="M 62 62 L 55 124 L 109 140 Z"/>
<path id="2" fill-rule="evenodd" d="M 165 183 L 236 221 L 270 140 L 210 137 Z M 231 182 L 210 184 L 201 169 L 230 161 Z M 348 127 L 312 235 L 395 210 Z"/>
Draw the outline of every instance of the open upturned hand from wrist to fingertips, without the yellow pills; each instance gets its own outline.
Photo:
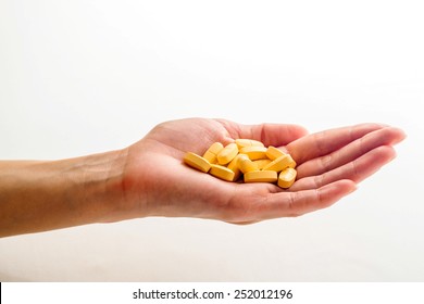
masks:
<path id="1" fill-rule="evenodd" d="M 288 190 L 272 183 L 237 183 L 183 164 L 187 151 L 202 154 L 210 144 L 236 138 L 262 141 L 290 153 L 297 181 Z M 239 125 L 189 118 L 158 125 L 126 151 L 126 217 L 179 216 L 235 224 L 299 216 L 327 207 L 395 157 L 404 138 L 396 128 L 362 124 L 313 135 L 296 125 Z"/>

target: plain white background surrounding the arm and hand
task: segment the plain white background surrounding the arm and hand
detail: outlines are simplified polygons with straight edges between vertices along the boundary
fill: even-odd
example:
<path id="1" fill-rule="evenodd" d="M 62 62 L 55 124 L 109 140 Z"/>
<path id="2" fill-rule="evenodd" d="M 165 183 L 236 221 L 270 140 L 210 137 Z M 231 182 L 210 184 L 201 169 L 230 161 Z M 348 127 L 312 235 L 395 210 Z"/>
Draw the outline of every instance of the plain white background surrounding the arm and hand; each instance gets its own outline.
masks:
<path id="1" fill-rule="evenodd" d="M 0 281 L 423 281 L 421 2 L 0 0 L 3 160 L 121 149 L 190 116 L 408 134 L 331 208 L 5 238 Z"/>

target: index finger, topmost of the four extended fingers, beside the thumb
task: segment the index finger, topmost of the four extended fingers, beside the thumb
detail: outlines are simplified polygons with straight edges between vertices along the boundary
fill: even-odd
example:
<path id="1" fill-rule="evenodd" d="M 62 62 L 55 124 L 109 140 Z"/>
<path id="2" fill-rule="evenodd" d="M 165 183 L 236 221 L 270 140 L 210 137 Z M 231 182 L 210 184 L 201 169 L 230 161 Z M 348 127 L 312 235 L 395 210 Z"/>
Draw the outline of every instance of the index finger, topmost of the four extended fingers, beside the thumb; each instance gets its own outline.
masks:
<path id="1" fill-rule="evenodd" d="M 384 127 L 384 125 L 378 124 L 361 124 L 329 129 L 299 138 L 289 143 L 286 149 L 298 164 L 302 164 L 332 153 L 364 135 Z"/>

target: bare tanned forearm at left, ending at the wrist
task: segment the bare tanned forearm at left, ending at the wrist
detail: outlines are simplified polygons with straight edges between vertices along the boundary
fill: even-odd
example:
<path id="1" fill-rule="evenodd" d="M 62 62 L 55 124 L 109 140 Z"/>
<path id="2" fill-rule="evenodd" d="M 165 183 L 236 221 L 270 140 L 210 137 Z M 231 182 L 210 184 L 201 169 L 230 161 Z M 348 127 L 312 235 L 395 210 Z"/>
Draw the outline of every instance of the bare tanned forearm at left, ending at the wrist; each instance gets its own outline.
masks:
<path id="1" fill-rule="evenodd" d="M 120 219 L 125 156 L 0 162 L 0 237 Z"/>

